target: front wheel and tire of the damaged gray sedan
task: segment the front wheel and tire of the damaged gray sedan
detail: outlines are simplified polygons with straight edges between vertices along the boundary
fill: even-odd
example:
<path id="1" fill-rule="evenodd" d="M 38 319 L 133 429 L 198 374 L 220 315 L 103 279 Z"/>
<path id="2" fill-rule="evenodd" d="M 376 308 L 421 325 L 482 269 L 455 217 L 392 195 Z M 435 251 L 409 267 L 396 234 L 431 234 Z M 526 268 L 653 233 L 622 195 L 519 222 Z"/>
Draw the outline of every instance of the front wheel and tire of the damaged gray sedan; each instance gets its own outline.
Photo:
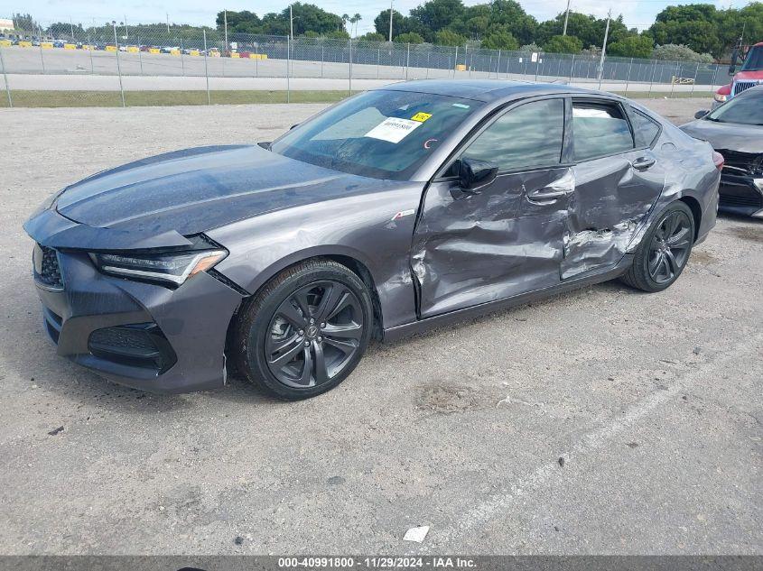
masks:
<path id="1" fill-rule="evenodd" d="M 287 401 L 330 391 L 368 347 L 368 288 L 338 262 L 316 258 L 279 273 L 249 299 L 234 329 L 236 369 Z"/>

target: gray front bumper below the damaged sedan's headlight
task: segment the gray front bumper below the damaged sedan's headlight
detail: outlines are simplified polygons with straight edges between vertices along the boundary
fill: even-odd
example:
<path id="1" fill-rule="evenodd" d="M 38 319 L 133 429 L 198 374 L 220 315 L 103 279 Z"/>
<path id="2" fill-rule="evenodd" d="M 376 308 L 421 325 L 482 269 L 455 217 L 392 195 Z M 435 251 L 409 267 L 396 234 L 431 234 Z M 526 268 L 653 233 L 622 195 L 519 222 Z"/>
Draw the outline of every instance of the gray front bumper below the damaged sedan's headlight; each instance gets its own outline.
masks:
<path id="1" fill-rule="evenodd" d="M 62 290 L 35 281 L 58 355 L 142 391 L 200 391 L 225 384 L 228 324 L 242 299 L 236 290 L 206 272 L 175 290 L 107 276 L 82 251 L 58 250 L 58 260 Z M 112 327 L 116 330 L 107 329 Z M 108 345 L 114 337 L 102 335 L 116 331 L 118 338 L 120 331 L 134 329 L 146 344 L 128 339 L 117 354 Z M 152 344 L 154 353 L 146 353 Z M 125 345 L 143 356 L 126 355 Z M 154 355 L 153 365 L 145 355 Z"/>

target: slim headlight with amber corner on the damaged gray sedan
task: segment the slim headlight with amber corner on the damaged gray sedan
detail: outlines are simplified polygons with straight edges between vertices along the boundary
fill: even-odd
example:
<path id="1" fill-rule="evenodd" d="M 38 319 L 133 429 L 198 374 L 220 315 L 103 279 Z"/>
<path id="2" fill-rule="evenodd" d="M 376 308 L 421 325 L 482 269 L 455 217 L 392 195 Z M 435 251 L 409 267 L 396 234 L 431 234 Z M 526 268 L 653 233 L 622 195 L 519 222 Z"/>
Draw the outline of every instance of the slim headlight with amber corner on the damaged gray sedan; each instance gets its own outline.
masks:
<path id="1" fill-rule="evenodd" d="M 192 239 L 193 240 L 193 239 Z M 192 250 L 144 253 L 91 253 L 98 270 L 112 275 L 144 281 L 163 281 L 180 285 L 191 276 L 214 267 L 228 255 L 222 248 L 209 249 L 202 238 Z M 215 244 L 217 245 L 217 244 Z M 206 249 L 201 249 L 206 246 Z"/>

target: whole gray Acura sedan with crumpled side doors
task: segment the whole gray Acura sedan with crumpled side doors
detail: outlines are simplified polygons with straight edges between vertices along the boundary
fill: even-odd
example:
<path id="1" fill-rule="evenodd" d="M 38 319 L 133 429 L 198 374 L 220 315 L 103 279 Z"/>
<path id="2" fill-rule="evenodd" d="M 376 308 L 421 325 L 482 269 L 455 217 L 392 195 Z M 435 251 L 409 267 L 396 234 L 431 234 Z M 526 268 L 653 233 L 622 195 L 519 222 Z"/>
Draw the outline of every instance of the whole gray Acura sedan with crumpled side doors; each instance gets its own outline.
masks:
<path id="1" fill-rule="evenodd" d="M 623 97 L 414 81 L 273 143 L 98 173 L 24 227 L 59 355 L 145 391 L 235 367 L 302 399 L 372 337 L 615 278 L 665 290 L 715 224 L 721 166 Z"/>

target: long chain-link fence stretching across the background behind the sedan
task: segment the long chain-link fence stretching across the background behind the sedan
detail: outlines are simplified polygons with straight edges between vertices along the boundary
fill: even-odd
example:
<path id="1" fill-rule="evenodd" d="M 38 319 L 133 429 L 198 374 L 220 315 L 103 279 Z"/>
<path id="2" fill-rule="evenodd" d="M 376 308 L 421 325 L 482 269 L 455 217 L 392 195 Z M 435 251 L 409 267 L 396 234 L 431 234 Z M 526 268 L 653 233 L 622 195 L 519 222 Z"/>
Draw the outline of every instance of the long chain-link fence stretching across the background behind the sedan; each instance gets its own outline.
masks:
<path id="1" fill-rule="evenodd" d="M 153 27 L 0 38 L 5 105 L 335 100 L 405 79 L 507 78 L 620 93 L 710 92 L 715 64 Z"/>

